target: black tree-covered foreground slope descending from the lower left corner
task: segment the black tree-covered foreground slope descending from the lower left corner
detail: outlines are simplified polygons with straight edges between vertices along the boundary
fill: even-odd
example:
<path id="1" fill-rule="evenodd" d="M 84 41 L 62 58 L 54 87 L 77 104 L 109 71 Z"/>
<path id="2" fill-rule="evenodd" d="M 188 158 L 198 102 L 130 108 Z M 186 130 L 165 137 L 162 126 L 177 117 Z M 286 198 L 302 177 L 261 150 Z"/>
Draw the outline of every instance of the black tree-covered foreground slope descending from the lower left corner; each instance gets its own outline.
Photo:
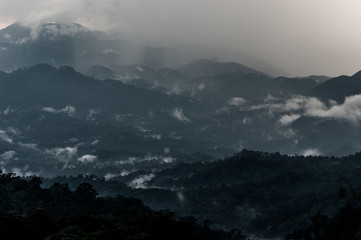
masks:
<path id="1" fill-rule="evenodd" d="M 211 230 L 193 217 L 153 211 L 140 200 L 98 198 L 88 183 L 40 188 L 12 173 L 0 174 L 1 239 L 245 239 L 238 230 Z"/>

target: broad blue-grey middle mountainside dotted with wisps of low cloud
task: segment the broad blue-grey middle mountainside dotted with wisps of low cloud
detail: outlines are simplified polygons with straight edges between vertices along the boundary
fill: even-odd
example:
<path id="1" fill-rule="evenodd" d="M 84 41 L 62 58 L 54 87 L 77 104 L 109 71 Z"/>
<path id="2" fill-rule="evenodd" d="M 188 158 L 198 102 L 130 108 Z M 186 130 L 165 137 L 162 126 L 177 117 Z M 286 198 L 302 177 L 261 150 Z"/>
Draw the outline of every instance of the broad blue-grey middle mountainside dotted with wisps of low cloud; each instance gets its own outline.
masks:
<path id="1" fill-rule="evenodd" d="M 0 74 L 4 169 L 105 176 L 196 161 L 196 153 L 211 161 L 245 147 L 291 154 L 317 146 L 315 154 L 338 155 L 359 149 L 355 126 L 303 112 L 308 99 L 294 94 L 307 92 L 312 79 L 123 69 L 154 78 L 132 86 L 133 80 L 98 80 L 46 64 Z M 166 84 L 183 92 L 174 94 Z"/>

